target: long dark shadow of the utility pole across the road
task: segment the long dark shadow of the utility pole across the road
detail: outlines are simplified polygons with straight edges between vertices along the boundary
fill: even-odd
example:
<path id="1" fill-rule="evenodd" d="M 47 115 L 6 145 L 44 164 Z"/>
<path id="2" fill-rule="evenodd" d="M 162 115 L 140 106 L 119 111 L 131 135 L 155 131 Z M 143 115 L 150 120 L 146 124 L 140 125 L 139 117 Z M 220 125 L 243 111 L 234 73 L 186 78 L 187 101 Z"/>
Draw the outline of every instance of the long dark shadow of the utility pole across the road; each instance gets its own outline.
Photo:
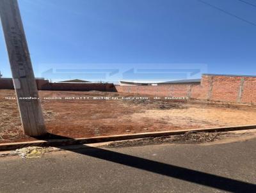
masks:
<path id="1" fill-rule="evenodd" d="M 51 141 L 51 139 L 74 140 L 69 137 L 54 134 L 48 134 L 47 137 L 40 137 L 38 139 L 44 139 L 45 141 Z M 111 150 L 86 146 L 85 144 L 79 144 L 79 148 L 76 149 L 70 149 L 68 146 L 56 147 L 61 148 L 61 150 L 72 151 L 81 155 L 107 160 L 116 164 L 142 169 L 152 173 L 161 174 L 163 176 L 168 176 L 170 178 L 177 178 L 179 180 L 189 181 L 198 185 L 212 187 L 214 189 L 225 190 L 228 192 L 256 192 L 256 185 L 253 183 L 204 173 L 185 167 L 174 166 L 172 164 L 164 164 L 154 160 L 148 160 L 147 158 L 135 157 L 133 155 L 118 153 Z"/>

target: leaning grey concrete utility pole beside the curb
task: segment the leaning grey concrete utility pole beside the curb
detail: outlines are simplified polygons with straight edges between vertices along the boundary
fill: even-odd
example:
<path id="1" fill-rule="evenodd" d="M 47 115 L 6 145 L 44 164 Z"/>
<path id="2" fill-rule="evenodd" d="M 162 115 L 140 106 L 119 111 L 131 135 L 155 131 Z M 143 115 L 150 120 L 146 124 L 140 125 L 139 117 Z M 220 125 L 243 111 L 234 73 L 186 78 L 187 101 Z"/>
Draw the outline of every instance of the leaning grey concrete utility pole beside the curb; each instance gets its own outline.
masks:
<path id="1" fill-rule="evenodd" d="M 27 135 L 44 135 L 44 118 L 40 100 L 35 99 L 38 98 L 38 91 L 17 0 L 0 0 L 0 17 L 22 127 Z"/>

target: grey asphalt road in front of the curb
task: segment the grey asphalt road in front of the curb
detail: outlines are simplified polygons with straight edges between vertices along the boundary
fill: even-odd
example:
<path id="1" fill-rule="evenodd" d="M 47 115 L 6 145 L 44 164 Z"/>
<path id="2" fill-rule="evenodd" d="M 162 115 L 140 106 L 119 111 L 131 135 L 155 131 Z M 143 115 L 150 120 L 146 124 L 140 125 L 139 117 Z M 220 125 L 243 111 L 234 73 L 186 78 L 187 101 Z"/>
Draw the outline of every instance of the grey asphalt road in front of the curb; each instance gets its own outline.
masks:
<path id="1" fill-rule="evenodd" d="M 0 192 L 256 192 L 256 139 L 0 158 Z"/>

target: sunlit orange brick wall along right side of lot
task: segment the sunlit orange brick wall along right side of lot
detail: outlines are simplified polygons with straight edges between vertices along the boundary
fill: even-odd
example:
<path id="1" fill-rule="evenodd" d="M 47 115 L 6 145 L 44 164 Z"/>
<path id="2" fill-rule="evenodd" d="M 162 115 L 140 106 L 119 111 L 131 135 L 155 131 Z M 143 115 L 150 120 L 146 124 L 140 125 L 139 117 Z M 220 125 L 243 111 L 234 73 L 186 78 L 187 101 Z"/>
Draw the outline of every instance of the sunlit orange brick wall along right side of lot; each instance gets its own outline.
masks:
<path id="1" fill-rule="evenodd" d="M 158 86 L 115 86 L 120 93 L 188 97 L 221 102 L 256 104 L 256 77 L 202 75 L 201 82 Z"/>

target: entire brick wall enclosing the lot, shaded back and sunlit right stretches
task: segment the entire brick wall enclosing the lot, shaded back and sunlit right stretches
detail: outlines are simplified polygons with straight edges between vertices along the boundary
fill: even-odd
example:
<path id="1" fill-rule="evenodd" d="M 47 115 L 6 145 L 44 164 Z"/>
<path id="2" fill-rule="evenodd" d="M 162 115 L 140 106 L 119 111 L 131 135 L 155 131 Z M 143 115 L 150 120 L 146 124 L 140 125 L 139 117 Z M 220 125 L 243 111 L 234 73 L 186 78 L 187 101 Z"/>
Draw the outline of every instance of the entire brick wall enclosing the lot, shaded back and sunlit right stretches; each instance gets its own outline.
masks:
<path id="1" fill-rule="evenodd" d="M 201 82 L 158 86 L 114 86 L 101 83 L 50 83 L 36 79 L 38 89 L 56 91 L 117 91 L 154 96 L 188 97 L 202 100 L 256 104 L 256 77 L 202 75 Z M 12 79 L 0 79 L 0 89 L 13 89 Z"/>

